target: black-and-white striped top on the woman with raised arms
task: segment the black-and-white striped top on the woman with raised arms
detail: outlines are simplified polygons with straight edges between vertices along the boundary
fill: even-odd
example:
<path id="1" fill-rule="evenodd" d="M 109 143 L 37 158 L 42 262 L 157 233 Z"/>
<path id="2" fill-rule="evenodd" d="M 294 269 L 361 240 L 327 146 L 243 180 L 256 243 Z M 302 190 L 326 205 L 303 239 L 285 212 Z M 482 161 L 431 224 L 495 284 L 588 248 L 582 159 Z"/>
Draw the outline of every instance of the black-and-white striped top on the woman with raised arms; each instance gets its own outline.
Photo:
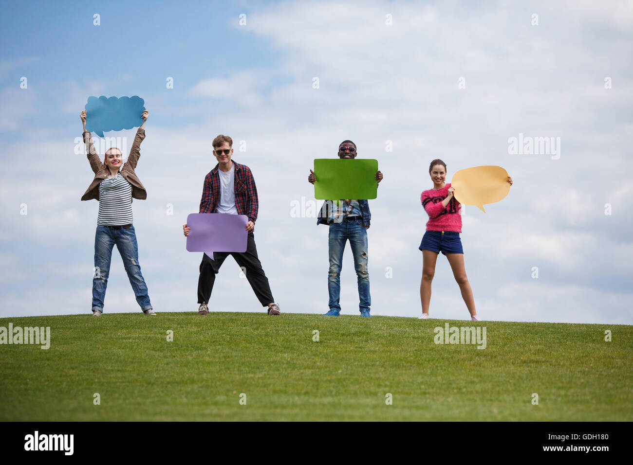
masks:
<path id="1" fill-rule="evenodd" d="M 121 226 L 132 223 L 132 185 L 121 172 L 99 183 L 97 225 Z"/>

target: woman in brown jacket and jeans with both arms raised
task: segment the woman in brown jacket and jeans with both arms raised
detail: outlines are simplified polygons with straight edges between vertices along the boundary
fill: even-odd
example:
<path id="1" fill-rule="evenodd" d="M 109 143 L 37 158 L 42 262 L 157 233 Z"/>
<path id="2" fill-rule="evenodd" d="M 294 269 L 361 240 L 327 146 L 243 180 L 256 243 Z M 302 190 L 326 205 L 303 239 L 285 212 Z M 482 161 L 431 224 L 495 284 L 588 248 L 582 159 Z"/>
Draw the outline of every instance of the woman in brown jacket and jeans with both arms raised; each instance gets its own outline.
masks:
<path id="1" fill-rule="evenodd" d="M 141 156 L 141 142 L 145 139 L 145 121 L 147 110 L 141 116 L 143 123 L 136 132 L 134 143 L 127 161 L 123 163 L 122 153 L 116 147 L 106 151 L 103 163 L 99 159 L 91 133 L 85 128 L 87 112 L 82 111 L 80 118 L 84 125 L 84 142 L 87 157 L 94 171 L 91 185 L 82 196 L 82 200 L 97 199 L 99 214 L 97 216 L 97 231 L 94 237 L 94 276 L 92 277 L 92 314 L 100 316 L 103 313 L 103 301 L 106 297 L 108 275 L 112 248 L 116 245 L 128 279 L 134 289 L 136 301 L 146 315 L 155 315 L 147 294 L 147 285 L 141 274 L 139 264 L 139 247 L 136 233 L 132 225 L 132 197 L 146 199 L 147 192 L 136 176 L 134 169 Z"/>

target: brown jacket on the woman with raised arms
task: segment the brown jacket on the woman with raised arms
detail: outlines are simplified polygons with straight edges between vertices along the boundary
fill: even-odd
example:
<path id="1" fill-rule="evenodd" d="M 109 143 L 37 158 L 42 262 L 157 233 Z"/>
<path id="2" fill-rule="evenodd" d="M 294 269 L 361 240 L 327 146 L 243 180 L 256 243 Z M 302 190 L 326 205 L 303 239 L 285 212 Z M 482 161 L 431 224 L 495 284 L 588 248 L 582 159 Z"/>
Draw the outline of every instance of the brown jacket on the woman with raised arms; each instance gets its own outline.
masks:
<path id="1" fill-rule="evenodd" d="M 134 172 L 134 168 L 136 168 L 136 164 L 141 156 L 141 142 L 143 139 L 145 139 L 145 130 L 139 128 L 136 132 L 136 136 L 134 137 L 134 143 L 132 144 L 132 149 L 130 149 L 127 161 L 123 163 L 123 168 L 121 168 L 121 174 L 132 185 L 132 197 L 141 200 L 147 199 L 147 192 L 145 187 L 141 184 L 141 180 L 139 180 Z M 106 165 L 101 163 L 101 159 L 99 159 L 99 155 L 97 155 L 94 145 L 92 144 L 91 133 L 88 131 L 84 132 L 84 142 L 90 167 L 92 168 L 92 171 L 94 171 L 94 179 L 81 199 L 99 200 L 99 183 L 108 177 L 110 170 Z"/>

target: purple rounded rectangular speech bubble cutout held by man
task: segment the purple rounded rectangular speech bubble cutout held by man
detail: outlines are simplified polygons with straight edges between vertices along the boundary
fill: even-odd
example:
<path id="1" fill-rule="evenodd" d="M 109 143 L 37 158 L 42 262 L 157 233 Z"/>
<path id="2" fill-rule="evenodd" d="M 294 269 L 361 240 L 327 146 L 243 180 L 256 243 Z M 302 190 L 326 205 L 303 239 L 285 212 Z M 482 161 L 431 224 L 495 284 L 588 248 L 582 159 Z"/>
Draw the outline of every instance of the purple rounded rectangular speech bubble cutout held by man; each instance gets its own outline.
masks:
<path id="1" fill-rule="evenodd" d="M 204 252 L 213 260 L 213 252 L 246 252 L 248 216 L 230 213 L 190 213 L 187 226 L 187 251 Z"/>

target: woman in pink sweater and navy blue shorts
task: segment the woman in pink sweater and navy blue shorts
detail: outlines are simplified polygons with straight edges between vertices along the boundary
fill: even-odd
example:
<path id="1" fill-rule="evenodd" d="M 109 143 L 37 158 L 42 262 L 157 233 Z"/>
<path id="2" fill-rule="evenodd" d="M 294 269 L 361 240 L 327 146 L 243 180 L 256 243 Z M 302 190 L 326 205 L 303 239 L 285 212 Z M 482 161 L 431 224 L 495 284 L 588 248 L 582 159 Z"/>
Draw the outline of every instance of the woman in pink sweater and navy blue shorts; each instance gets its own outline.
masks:
<path id="1" fill-rule="evenodd" d="M 460 285 L 470 317 L 479 321 L 475 310 L 473 291 L 468 283 L 466 268 L 464 267 L 464 251 L 461 248 L 461 204 L 453 197 L 454 188 L 451 183 L 444 183 L 446 179 L 446 163 L 435 159 L 429 166 L 429 175 L 434 183 L 433 189 L 422 192 L 420 200 L 429 214 L 427 232 L 424 233 L 422 244 L 422 281 L 420 282 L 420 300 L 422 301 L 421 319 L 429 318 L 429 304 L 431 300 L 431 281 L 435 274 L 435 266 L 439 252 L 448 259 L 453 269 L 453 276 Z M 512 185 L 512 178 L 508 177 Z"/>

